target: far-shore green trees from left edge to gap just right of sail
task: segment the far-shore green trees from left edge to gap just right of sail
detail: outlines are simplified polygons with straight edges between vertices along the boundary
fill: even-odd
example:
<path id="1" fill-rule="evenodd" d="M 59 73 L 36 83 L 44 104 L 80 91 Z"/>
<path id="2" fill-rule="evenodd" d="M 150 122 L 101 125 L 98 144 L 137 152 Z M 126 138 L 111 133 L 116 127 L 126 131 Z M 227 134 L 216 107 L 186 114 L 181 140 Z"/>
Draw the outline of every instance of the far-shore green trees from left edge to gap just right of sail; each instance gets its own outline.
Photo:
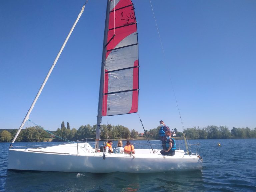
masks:
<path id="1" fill-rule="evenodd" d="M 65 127 L 64 121 L 61 128 L 56 131 L 46 131 L 41 126 L 26 127 L 20 131 L 16 142 L 42 142 L 42 141 L 78 141 L 85 138 L 95 139 L 97 125 L 82 125 L 78 130 L 70 129 L 69 123 Z M 10 142 L 18 129 L 0 129 L 0 142 Z M 100 137 L 102 139 L 136 139 L 138 131 L 129 130 L 122 125 L 101 125 Z"/>

